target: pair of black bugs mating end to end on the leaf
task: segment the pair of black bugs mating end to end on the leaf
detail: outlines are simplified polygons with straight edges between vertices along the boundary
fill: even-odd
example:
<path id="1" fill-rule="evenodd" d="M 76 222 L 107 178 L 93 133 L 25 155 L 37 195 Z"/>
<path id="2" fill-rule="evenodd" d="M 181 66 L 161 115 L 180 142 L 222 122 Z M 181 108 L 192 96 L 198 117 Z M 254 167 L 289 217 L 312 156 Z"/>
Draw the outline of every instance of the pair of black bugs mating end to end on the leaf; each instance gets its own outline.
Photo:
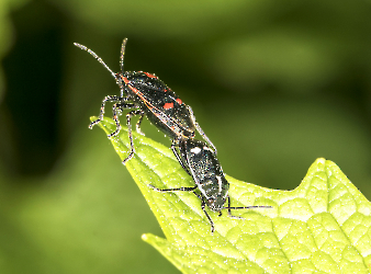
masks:
<path id="1" fill-rule="evenodd" d="M 101 62 L 111 72 L 120 87 L 120 96 L 108 95 L 104 98 L 99 118 L 92 122 L 89 128 L 92 128 L 103 119 L 105 103 L 112 102 L 114 103 L 112 112 L 116 129 L 109 135 L 109 138 L 111 138 L 121 130 L 119 115 L 122 114 L 122 111 L 135 109 L 126 114 L 127 132 L 131 141 L 131 151 L 123 160 L 123 163 L 126 163 L 135 153 L 131 119 L 133 116 L 139 115 L 138 122 L 136 123 L 136 130 L 143 134 L 140 132 L 140 123 L 146 115 L 153 124 L 171 138 L 171 149 L 173 153 L 181 167 L 195 182 L 195 185 L 191 187 L 160 190 L 153 185 L 149 186 L 159 192 L 193 192 L 201 199 L 201 207 L 211 224 L 212 231 L 214 231 L 214 222 L 209 216 L 205 205 L 213 212 L 220 212 L 220 215 L 222 214 L 222 209 L 228 209 L 229 217 L 235 217 L 232 216 L 231 209 L 269 207 L 231 207 L 231 198 L 228 196 L 229 183 L 226 181 L 222 167 L 216 159 L 216 148 L 196 123 L 192 109 L 186 105 L 179 96 L 155 75 L 144 71 L 124 71 L 126 41 L 127 38 L 124 39 L 121 48 L 121 71 L 117 73 L 114 73 L 94 52 L 83 45 L 75 43 L 77 47 L 87 50 Z M 195 129 L 206 142 L 194 139 Z M 180 153 L 177 149 L 179 149 Z M 200 193 L 198 193 L 198 190 Z M 228 206 L 224 207 L 226 201 L 228 201 Z"/>

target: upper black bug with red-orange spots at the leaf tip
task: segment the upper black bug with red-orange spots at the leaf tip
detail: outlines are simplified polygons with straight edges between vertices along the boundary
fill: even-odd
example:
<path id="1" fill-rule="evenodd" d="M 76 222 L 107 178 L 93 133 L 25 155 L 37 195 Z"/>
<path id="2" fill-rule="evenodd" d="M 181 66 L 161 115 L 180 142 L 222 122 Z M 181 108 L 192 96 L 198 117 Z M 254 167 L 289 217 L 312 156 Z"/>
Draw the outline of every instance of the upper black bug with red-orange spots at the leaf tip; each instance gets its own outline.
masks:
<path id="1" fill-rule="evenodd" d="M 103 119 L 106 102 L 114 103 L 112 106 L 113 119 L 116 129 L 108 137 L 115 136 L 121 130 L 119 116 L 123 110 L 134 109 L 126 114 L 127 133 L 131 141 L 131 151 L 123 160 L 125 164 L 135 153 L 132 117 L 139 115 L 136 123 L 136 132 L 144 135 L 140 130 L 140 123 L 146 116 L 149 122 L 162 130 L 172 140 L 171 149 L 177 155 L 176 148 L 181 139 L 194 138 L 195 129 L 207 141 L 216 152 L 215 146 L 207 138 L 200 125 L 196 123 L 191 106 L 186 105 L 181 99 L 166 85 L 157 76 L 144 71 L 124 71 L 124 54 L 127 38 L 124 38 L 121 47 L 120 68 L 121 71 L 114 73 L 94 52 L 83 45 L 74 43 L 75 46 L 91 54 L 106 70 L 111 72 L 120 87 L 120 96 L 108 95 L 103 99 L 99 118 L 90 123 L 89 128 L 99 124 Z"/>

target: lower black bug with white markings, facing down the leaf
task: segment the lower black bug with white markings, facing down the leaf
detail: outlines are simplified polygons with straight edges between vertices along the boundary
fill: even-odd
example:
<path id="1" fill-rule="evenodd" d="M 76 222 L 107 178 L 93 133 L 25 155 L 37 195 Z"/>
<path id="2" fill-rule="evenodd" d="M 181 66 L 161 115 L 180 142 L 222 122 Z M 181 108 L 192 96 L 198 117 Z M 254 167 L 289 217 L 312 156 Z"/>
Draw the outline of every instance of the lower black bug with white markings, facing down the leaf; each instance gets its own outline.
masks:
<path id="1" fill-rule="evenodd" d="M 179 144 L 179 151 L 177 159 L 187 173 L 193 178 L 195 185 L 178 189 L 158 189 L 151 184 L 148 186 L 158 192 L 193 192 L 201 199 L 201 208 L 211 224 L 212 232 L 214 232 L 214 222 L 205 209 L 206 205 L 211 210 L 218 212 L 218 216 L 222 216 L 222 209 L 228 209 L 228 216 L 232 218 L 241 217 L 233 216 L 231 209 L 272 208 L 271 206 L 232 207 L 228 195 L 229 183 L 225 179 L 215 151 L 206 142 L 196 139 L 182 139 Z M 226 202 L 228 206 L 224 206 Z"/>

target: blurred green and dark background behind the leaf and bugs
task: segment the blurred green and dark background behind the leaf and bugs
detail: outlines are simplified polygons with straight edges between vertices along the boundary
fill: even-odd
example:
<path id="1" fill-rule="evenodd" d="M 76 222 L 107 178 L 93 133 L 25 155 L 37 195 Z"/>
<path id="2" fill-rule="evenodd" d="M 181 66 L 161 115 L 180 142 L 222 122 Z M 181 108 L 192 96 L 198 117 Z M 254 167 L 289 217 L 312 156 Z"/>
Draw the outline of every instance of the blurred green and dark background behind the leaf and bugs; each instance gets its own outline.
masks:
<path id="1" fill-rule="evenodd" d="M 318 157 L 370 198 L 371 1 L 0 1 L 0 273 L 177 273 L 104 133 L 111 75 L 154 72 L 224 171 L 292 190 Z M 110 107 L 108 109 L 110 114 Z M 147 136 L 170 146 L 144 122 Z"/>

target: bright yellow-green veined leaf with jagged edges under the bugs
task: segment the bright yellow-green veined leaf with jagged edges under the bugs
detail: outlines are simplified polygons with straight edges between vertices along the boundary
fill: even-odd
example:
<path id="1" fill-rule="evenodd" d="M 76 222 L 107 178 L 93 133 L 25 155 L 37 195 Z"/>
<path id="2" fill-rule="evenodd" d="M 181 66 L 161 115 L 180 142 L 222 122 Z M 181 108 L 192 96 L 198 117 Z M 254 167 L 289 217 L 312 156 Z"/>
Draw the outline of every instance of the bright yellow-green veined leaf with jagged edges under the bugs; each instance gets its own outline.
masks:
<path id="1" fill-rule="evenodd" d="M 95 117 L 92 117 L 92 119 Z M 100 126 L 115 129 L 112 119 Z M 111 139 L 123 160 L 127 132 Z M 210 224 L 192 193 L 158 193 L 147 186 L 194 185 L 172 151 L 134 133 L 136 153 L 126 167 L 161 226 L 166 239 L 144 235 L 183 273 L 369 273 L 371 204 L 331 161 L 317 159 L 293 191 L 268 190 L 227 176 L 232 206 L 270 205 L 234 210 Z"/>

